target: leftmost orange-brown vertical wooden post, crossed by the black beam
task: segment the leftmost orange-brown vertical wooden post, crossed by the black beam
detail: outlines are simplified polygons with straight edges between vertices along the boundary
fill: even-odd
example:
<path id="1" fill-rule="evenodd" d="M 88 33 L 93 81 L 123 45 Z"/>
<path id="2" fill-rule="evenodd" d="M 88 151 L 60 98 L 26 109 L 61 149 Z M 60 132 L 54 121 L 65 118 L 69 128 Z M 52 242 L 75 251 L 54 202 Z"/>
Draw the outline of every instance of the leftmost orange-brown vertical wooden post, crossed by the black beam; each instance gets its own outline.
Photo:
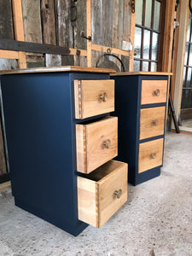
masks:
<path id="1" fill-rule="evenodd" d="M 21 0 L 12 0 L 12 8 L 14 16 L 15 40 L 25 41 Z M 26 52 L 19 51 L 18 55 L 19 67 L 26 68 Z"/>

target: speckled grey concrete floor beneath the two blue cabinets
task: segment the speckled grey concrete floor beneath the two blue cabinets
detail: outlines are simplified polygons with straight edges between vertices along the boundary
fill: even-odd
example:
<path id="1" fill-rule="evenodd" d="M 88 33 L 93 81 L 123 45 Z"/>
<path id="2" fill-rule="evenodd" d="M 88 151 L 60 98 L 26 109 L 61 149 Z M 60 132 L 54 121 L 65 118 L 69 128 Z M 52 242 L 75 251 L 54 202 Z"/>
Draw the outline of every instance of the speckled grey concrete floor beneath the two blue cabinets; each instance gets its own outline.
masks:
<path id="1" fill-rule="evenodd" d="M 166 134 L 164 167 L 137 187 L 98 230 L 78 237 L 14 206 L 10 189 L 0 193 L 0 255 L 192 255 L 192 136 Z"/>

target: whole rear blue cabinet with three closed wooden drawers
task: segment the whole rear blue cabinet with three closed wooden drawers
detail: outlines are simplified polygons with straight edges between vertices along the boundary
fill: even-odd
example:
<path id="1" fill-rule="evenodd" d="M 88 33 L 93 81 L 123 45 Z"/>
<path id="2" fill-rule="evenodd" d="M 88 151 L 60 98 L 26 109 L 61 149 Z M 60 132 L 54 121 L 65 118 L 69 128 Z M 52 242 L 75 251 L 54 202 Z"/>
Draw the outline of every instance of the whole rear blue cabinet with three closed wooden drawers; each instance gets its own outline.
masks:
<path id="1" fill-rule="evenodd" d="M 163 164 L 168 73 L 117 73 L 118 160 L 129 162 L 129 182 L 160 175 Z"/>

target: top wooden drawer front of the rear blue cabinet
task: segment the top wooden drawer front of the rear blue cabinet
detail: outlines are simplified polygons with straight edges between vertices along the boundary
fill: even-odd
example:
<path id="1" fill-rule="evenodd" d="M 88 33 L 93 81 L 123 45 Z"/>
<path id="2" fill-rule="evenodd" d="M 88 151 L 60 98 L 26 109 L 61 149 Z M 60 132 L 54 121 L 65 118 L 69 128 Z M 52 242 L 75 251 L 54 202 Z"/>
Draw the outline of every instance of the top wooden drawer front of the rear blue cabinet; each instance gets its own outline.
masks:
<path id="1" fill-rule="evenodd" d="M 166 80 L 143 80 L 141 104 L 166 102 Z"/>

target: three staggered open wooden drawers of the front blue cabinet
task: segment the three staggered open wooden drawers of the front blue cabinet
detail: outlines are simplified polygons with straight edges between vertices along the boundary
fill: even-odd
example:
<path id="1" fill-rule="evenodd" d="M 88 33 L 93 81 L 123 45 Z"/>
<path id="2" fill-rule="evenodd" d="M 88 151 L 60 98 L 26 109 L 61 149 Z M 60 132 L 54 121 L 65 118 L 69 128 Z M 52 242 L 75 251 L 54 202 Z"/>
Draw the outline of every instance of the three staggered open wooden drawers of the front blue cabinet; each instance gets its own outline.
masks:
<path id="1" fill-rule="evenodd" d="M 118 154 L 118 118 L 96 116 L 114 111 L 113 80 L 75 80 L 79 220 L 100 228 L 127 200 L 127 165 Z"/>

